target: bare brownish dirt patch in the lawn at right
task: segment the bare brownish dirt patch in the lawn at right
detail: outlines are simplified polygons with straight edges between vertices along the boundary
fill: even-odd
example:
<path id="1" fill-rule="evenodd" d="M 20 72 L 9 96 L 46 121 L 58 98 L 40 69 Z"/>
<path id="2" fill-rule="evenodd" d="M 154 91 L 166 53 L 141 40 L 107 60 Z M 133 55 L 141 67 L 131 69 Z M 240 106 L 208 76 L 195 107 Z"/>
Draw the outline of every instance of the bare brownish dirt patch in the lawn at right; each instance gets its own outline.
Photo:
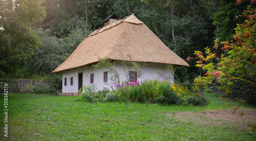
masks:
<path id="1" fill-rule="evenodd" d="M 241 116 L 243 110 L 244 115 Z M 176 120 L 185 123 L 194 123 L 198 126 L 204 125 L 230 125 L 234 127 L 239 127 L 242 129 L 251 129 L 248 126 L 250 123 L 256 123 L 256 109 L 238 109 L 235 114 L 232 113 L 233 109 L 224 110 L 209 110 L 204 112 L 181 112 L 173 113 L 169 112 L 166 115 L 174 117 Z"/>

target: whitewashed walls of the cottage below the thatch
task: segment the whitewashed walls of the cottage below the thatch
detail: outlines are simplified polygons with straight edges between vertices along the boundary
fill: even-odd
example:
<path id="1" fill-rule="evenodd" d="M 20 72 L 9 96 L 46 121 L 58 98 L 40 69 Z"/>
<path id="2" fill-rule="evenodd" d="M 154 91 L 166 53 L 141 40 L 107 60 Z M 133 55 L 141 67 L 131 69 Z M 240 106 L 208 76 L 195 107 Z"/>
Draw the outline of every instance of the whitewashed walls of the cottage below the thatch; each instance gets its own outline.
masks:
<path id="1" fill-rule="evenodd" d="M 124 73 L 124 66 L 122 65 L 121 61 L 114 61 L 112 64 L 114 67 L 116 67 L 122 81 L 125 82 L 126 77 Z M 165 67 L 167 66 L 166 64 L 144 62 L 139 62 L 139 65 L 142 70 L 142 75 L 137 78 L 137 81 L 143 81 L 145 79 L 161 79 L 159 78 L 157 71 L 160 70 L 162 72 L 166 72 Z M 127 72 L 133 70 L 133 67 L 130 67 L 129 69 L 129 66 L 127 66 L 126 74 Z M 84 66 L 75 69 L 65 70 L 62 72 L 62 93 L 78 92 L 78 74 L 81 72 L 83 73 L 83 85 L 91 85 L 91 74 L 94 74 L 94 85 L 97 87 L 97 90 L 102 90 L 103 86 L 111 88 L 112 82 L 110 80 L 110 74 L 108 74 L 108 82 L 103 82 L 103 72 L 108 72 L 108 68 L 95 69 L 92 66 Z M 73 77 L 72 86 L 70 84 L 71 77 Z M 64 84 L 65 78 L 67 78 L 67 86 L 65 86 Z M 129 79 L 129 76 L 127 79 Z"/>

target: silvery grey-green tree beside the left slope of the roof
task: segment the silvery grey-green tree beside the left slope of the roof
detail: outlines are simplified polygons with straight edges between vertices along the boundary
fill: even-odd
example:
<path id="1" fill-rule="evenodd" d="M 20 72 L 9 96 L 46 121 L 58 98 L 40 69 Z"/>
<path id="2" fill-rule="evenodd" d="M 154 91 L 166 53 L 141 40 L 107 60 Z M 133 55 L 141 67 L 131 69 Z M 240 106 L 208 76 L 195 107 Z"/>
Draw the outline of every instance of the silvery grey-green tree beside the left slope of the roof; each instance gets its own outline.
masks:
<path id="1" fill-rule="evenodd" d="M 51 74 L 89 34 L 81 28 L 71 30 L 65 38 L 57 38 L 49 29 L 38 28 L 35 33 L 39 37 L 41 45 L 34 50 L 24 69 L 26 72 L 30 72 L 28 75 L 40 74 L 39 76 Z"/>

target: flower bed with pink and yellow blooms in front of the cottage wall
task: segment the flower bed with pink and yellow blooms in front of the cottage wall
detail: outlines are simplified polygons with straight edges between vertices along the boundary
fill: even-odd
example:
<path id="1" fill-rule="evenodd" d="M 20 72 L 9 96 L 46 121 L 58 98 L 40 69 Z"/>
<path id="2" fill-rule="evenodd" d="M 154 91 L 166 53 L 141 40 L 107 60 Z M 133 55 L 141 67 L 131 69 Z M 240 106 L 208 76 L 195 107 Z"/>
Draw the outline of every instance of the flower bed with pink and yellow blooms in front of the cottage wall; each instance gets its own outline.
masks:
<path id="1" fill-rule="evenodd" d="M 198 92 L 188 90 L 187 87 L 172 84 L 164 80 L 144 80 L 141 82 L 126 82 L 123 84 L 112 85 L 111 90 L 104 88 L 102 91 L 95 92 L 94 85 L 84 86 L 85 92 L 81 92 L 78 101 L 83 102 L 150 102 L 164 105 L 188 105 L 205 106 L 210 103 Z"/>

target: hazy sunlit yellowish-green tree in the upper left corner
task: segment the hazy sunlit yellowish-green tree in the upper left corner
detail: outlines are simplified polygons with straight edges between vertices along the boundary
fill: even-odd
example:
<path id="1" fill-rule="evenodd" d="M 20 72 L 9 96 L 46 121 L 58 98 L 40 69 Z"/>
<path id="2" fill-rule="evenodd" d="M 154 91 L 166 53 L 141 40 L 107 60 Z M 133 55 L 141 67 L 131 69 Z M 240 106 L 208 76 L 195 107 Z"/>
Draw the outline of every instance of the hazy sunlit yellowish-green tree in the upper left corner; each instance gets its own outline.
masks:
<path id="1" fill-rule="evenodd" d="M 19 66 L 40 44 L 32 27 L 45 17 L 42 1 L 0 1 L 0 79 L 18 75 Z"/>

